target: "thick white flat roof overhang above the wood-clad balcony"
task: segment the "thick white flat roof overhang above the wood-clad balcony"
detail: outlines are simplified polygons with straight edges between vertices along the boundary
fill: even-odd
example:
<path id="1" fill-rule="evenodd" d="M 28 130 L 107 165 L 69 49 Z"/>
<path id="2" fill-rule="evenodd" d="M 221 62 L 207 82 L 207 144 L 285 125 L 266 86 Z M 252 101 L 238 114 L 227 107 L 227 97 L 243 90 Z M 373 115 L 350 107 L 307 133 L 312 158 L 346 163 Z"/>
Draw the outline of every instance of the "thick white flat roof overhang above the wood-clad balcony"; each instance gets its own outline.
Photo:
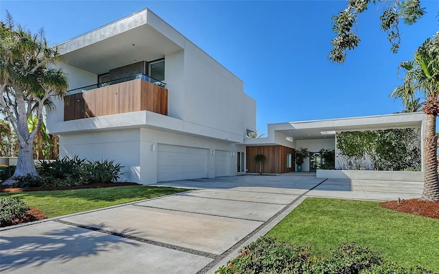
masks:
<path id="1" fill-rule="evenodd" d="M 150 10 L 141 10 L 62 42 L 62 61 L 95 74 L 181 51 L 185 38 Z"/>

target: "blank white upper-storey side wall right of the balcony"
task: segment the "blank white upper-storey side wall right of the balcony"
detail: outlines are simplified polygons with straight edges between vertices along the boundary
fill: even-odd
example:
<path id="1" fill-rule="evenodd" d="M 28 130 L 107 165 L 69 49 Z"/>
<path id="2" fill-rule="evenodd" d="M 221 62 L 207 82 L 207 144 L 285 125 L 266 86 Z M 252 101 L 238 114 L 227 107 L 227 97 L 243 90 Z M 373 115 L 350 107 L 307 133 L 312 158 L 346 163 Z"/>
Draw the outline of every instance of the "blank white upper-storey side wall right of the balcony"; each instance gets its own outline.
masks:
<path id="1" fill-rule="evenodd" d="M 256 102 L 244 94 L 241 79 L 189 41 L 184 77 L 183 120 L 241 135 L 256 127 Z"/>

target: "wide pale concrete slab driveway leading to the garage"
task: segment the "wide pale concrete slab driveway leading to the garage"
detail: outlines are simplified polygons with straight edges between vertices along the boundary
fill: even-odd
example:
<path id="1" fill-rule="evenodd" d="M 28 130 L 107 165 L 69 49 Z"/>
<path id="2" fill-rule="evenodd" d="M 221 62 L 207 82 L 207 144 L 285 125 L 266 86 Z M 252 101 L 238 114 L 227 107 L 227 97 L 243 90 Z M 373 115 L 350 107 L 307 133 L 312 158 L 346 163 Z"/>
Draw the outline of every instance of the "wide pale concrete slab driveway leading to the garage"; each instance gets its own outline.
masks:
<path id="1" fill-rule="evenodd" d="M 244 175 L 158 184 L 195 188 L 0 229 L 2 273 L 214 273 L 306 197 L 420 197 L 420 182 Z"/>

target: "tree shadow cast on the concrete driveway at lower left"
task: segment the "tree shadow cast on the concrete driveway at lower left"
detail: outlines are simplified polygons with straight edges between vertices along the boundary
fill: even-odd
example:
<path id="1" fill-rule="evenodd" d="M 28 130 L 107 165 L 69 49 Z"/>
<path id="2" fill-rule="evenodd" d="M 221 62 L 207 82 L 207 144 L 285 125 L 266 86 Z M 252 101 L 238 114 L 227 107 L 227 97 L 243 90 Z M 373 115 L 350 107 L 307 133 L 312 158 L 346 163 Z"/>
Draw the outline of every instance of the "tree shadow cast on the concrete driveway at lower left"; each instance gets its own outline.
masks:
<path id="1" fill-rule="evenodd" d="M 43 225 L 47 227 L 48 223 Z M 35 226 L 32 225 L 33 228 Z M 0 272 L 29 266 L 38 268 L 48 262 L 64 264 L 81 257 L 86 260 L 78 262 L 88 262 L 92 256 L 106 256 L 103 253 L 107 251 L 114 254 L 114 251 L 123 252 L 127 248 L 141 245 L 133 240 L 80 227 L 55 222 L 51 222 L 50 226 L 51 230 L 35 236 L 28 236 L 30 228 L 26 227 L 3 231 L 0 237 Z M 121 232 L 130 233 L 132 231 Z"/>

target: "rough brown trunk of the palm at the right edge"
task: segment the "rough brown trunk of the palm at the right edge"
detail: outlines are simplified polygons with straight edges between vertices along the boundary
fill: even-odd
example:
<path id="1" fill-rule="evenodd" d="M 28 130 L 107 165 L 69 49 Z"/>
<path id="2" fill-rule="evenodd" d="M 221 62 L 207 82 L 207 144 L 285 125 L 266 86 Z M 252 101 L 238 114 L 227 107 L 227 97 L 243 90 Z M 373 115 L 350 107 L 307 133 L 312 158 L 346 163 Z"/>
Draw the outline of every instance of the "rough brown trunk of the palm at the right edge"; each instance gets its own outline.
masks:
<path id="1" fill-rule="evenodd" d="M 424 140 L 425 175 L 424 190 L 421 199 L 425 201 L 439 201 L 439 179 L 437 158 L 436 115 L 427 114 L 427 130 Z"/>

